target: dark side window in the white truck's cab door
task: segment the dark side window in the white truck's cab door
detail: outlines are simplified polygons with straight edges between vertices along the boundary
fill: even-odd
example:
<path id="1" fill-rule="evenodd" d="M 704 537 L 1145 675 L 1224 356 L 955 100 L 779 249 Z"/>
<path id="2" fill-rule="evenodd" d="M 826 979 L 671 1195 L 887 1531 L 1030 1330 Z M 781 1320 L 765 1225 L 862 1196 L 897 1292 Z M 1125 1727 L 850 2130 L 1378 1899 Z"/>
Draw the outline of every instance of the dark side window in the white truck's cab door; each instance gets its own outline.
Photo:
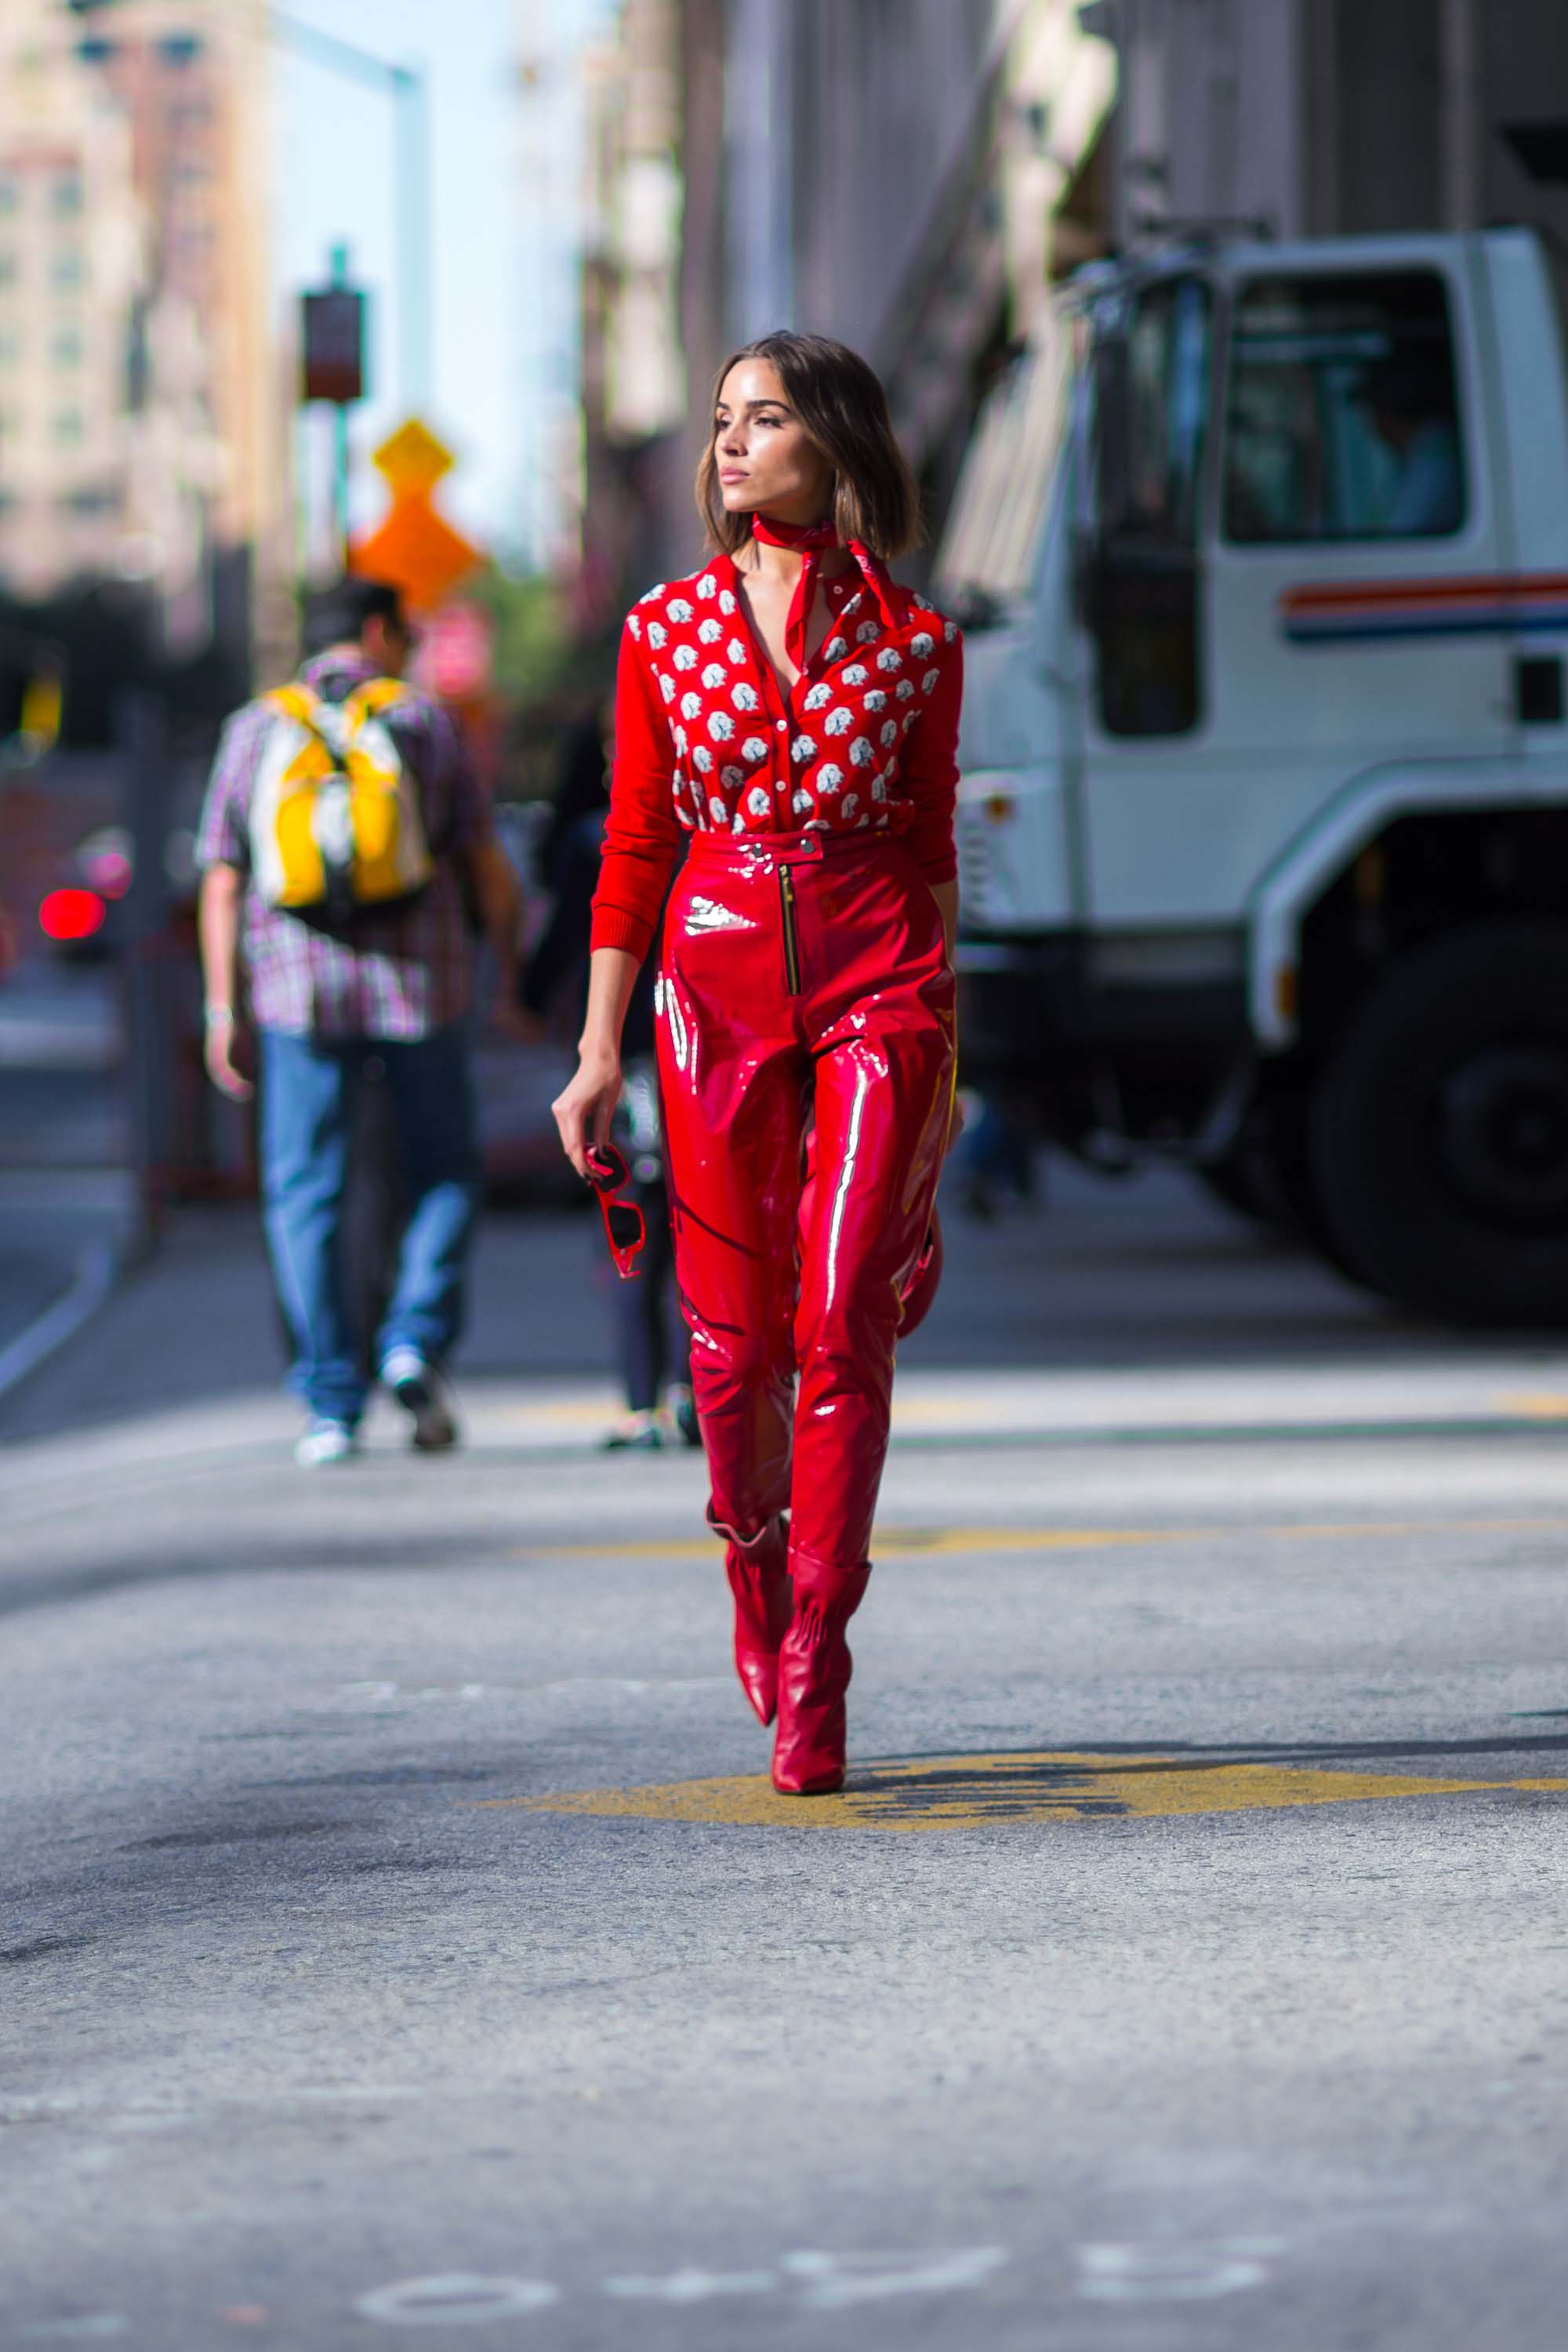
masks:
<path id="1" fill-rule="evenodd" d="M 1232 339 L 1225 534 L 1446 539 L 1465 440 L 1436 270 L 1253 278 Z"/>

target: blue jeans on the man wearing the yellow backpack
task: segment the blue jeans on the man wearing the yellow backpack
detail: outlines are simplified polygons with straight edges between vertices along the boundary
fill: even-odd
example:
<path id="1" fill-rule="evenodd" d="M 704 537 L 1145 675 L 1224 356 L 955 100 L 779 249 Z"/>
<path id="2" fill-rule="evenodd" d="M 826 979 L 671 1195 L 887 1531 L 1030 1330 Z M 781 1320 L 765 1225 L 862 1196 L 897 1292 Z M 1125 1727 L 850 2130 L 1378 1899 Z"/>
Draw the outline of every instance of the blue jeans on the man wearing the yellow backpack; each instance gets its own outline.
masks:
<path id="1" fill-rule="evenodd" d="M 454 1023 L 411 1042 L 261 1033 L 261 1202 L 294 1338 L 289 1385 L 322 1421 L 357 1423 L 367 1376 L 343 1279 L 343 1200 L 355 1098 L 386 1068 L 409 1221 L 374 1362 L 416 1348 L 440 1362 L 463 1322 L 463 1265 L 480 1202 L 468 1040 Z"/>

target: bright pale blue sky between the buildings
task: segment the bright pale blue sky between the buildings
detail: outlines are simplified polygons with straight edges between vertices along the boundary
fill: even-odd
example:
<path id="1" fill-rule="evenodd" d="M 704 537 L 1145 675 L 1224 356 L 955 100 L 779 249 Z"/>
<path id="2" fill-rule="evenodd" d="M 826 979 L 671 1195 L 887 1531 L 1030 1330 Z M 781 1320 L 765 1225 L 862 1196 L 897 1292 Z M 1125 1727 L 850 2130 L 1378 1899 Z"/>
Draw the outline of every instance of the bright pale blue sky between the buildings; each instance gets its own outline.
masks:
<path id="1" fill-rule="evenodd" d="M 538 557 L 576 365 L 578 111 L 574 59 L 614 0 L 280 0 L 280 14 L 423 66 L 433 129 L 433 390 L 425 423 L 458 454 L 451 520 L 510 562 Z M 520 66 L 536 71 L 524 82 Z M 327 280 L 336 242 L 364 285 L 369 397 L 353 412 L 353 515 L 383 506 L 369 452 L 407 416 L 397 346 L 393 99 L 273 47 L 273 285 L 282 308 Z M 320 508 L 329 421 L 301 423 Z"/>

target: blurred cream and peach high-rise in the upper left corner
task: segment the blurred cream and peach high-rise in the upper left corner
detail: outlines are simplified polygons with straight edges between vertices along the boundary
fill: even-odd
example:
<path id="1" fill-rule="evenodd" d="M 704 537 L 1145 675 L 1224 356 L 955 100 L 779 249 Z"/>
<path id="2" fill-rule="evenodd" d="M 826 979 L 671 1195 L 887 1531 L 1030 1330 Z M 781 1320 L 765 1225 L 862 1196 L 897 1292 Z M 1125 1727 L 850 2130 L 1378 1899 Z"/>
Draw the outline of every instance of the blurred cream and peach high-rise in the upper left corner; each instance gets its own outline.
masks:
<path id="1" fill-rule="evenodd" d="M 226 0 L 0 16 L 0 586 L 139 586 L 237 663 L 287 588 L 266 42 Z"/>

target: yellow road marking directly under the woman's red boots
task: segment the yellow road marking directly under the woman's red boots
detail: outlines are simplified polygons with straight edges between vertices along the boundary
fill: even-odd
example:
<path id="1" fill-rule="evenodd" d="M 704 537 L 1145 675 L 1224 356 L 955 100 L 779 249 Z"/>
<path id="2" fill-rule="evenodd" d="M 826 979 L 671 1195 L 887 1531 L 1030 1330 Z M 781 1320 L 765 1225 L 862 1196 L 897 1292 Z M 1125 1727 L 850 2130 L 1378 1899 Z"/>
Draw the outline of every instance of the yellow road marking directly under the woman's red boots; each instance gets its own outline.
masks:
<path id="1" fill-rule="evenodd" d="M 592 1813 L 719 1823 L 736 1830 L 983 1830 L 1037 1820 L 1251 1813 L 1286 1804 L 1371 1804 L 1479 1790 L 1568 1790 L 1568 1780 L 1427 1780 L 1286 1764 L 1192 1764 L 1182 1757 L 987 1755 L 860 1764 L 839 1797 L 780 1797 L 759 1776 L 588 1788 L 552 1797 L 482 1797 L 480 1811 Z"/>

